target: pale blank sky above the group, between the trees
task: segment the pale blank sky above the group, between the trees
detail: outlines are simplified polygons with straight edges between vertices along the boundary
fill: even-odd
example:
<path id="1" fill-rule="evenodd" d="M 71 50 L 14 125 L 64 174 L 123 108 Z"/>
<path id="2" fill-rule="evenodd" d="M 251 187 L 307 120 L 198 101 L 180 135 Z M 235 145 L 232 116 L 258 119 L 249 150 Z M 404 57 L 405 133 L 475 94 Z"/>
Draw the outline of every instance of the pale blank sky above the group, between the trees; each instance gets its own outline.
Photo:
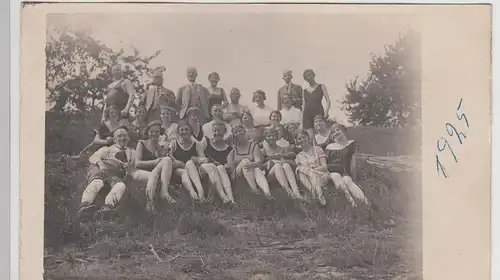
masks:
<path id="1" fill-rule="evenodd" d="M 228 93 L 238 87 L 241 103 L 251 104 L 257 89 L 275 108 L 282 72 L 293 71 L 293 82 L 307 86 L 302 73 L 311 68 L 327 87 L 330 116 L 346 122 L 338 101 L 345 84 L 368 73 L 371 54 L 413 26 L 405 14 L 368 13 L 89 13 L 48 16 L 48 24 L 86 29 L 107 46 L 143 55 L 161 54 L 151 66 L 164 66 L 164 85 L 173 90 L 187 82 L 186 68 L 196 67 L 197 82 L 208 86 L 208 74 L 218 72 L 219 86 Z"/>

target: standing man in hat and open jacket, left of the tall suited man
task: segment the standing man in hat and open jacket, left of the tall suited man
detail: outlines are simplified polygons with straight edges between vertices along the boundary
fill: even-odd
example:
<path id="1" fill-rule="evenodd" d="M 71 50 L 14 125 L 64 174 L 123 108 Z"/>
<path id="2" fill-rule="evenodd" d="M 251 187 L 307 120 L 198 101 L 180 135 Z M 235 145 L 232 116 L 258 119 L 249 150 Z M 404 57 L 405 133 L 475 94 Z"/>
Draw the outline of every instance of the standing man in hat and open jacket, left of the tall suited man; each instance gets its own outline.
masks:
<path id="1" fill-rule="evenodd" d="M 141 103 L 146 107 L 147 123 L 160 119 L 160 105 L 175 107 L 175 93 L 163 86 L 163 70 L 153 73 L 153 83 L 142 96 Z"/>

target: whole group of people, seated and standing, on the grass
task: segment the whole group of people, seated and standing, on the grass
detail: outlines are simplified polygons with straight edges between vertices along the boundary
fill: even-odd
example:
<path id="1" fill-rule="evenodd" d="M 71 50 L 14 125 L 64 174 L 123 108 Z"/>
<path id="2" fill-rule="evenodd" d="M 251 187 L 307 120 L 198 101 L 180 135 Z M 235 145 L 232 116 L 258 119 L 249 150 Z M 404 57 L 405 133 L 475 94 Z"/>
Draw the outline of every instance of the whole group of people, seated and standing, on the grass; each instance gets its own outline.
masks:
<path id="1" fill-rule="evenodd" d="M 175 94 L 157 71 L 133 119 L 134 87 L 121 66 L 112 67 L 112 76 L 95 130 L 93 144 L 100 148 L 89 158 L 81 218 L 113 216 L 130 184 L 145 186 L 150 212 L 156 211 L 157 197 L 175 203 L 169 192 L 174 185 L 182 185 L 196 201 L 217 196 L 234 204 L 238 180 L 268 199 L 274 199 L 270 183 L 277 183 L 293 199 L 323 205 L 322 188 L 331 182 L 352 206 L 370 204 L 353 180 L 356 144 L 347 139 L 345 126 L 328 119 L 328 91 L 311 69 L 303 74 L 306 89 L 292 83 L 292 71 L 283 72 L 277 110 L 265 104 L 262 90 L 253 93 L 253 106 L 239 103 L 238 88 L 228 98 L 215 72 L 204 87 L 196 83 L 196 69 L 188 68 L 189 83 Z M 94 200 L 105 184 L 111 189 L 98 208 Z"/>

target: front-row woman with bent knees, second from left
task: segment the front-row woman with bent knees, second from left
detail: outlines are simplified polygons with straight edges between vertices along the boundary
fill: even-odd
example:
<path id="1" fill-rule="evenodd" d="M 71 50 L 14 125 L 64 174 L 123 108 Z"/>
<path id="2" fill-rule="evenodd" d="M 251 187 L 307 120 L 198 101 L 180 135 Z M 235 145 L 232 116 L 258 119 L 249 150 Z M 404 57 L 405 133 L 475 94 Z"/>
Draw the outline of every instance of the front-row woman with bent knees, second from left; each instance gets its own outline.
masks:
<path id="1" fill-rule="evenodd" d="M 170 203 L 175 203 L 175 200 L 168 193 L 170 178 L 172 176 L 172 159 L 160 156 L 161 145 L 158 141 L 160 130 L 160 121 L 151 122 L 145 131 L 148 139 L 139 140 L 136 148 L 137 168 L 151 172 L 150 179 L 146 185 L 146 208 L 150 212 L 153 212 L 155 208 L 154 198 L 158 181 L 161 182 L 160 198 Z"/>

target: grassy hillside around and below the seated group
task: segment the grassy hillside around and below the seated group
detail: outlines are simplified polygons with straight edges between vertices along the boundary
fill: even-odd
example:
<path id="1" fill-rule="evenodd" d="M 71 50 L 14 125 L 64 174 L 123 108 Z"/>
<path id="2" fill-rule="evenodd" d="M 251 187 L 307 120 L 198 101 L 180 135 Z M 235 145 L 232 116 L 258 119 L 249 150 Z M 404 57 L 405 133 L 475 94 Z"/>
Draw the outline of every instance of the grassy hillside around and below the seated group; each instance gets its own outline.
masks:
<path id="1" fill-rule="evenodd" d="M 60 152 L 85 146 L 91 125 L 73 120 L 65 137 L 53 136 L 64 123 L 48 127 L 55 140 L 45 160 L 46 279 L 421 279 L 420 174 L 362 161 L 359 185 L 375 213 L 350 208 L 333 188 L 322 208 L 277 187 L 269 202 L 236 184 L 232 208 L 192 203 L 178 189 L 177 205 L 149 216 L 144 189 L 129 187 L 115 223 L 77 224 L 85 163 L 64 162 Z M 378 155 L 411 153 L 415 139 L 402 129 L 356 127 L 349 135 L 360 152 Z M 395 227 L 384 226 L 388 218 Z"/>

